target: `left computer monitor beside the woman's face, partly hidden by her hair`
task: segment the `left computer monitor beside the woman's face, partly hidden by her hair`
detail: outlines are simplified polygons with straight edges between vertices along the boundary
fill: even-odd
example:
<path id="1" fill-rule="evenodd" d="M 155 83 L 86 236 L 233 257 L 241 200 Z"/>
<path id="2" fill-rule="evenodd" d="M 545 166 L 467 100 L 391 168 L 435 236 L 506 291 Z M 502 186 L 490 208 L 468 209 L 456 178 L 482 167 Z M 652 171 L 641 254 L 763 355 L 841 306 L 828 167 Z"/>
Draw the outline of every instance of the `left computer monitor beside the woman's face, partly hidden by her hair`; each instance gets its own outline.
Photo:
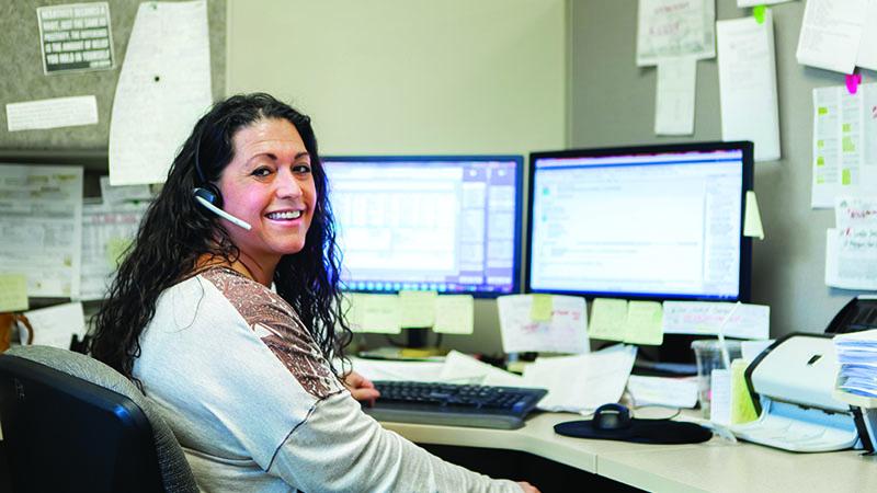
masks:
<path id="1" fill-rule="evenodd" d="M 521 156 L 326 157 L 345 289 L 519 290 Z"/>

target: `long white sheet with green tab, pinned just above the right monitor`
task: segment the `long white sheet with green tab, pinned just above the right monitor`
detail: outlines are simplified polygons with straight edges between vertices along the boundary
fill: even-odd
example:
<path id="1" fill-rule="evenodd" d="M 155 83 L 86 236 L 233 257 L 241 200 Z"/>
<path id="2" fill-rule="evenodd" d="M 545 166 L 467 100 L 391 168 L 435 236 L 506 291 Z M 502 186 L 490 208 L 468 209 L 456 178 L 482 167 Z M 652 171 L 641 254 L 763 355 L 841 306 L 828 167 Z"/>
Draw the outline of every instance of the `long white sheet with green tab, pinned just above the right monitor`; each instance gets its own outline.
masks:
<path id="1" fill-rule="evenodd" d="M 751 140 L 755 161 L 779 159 L 773 14 L 716 23 L 722 140 Z"/>

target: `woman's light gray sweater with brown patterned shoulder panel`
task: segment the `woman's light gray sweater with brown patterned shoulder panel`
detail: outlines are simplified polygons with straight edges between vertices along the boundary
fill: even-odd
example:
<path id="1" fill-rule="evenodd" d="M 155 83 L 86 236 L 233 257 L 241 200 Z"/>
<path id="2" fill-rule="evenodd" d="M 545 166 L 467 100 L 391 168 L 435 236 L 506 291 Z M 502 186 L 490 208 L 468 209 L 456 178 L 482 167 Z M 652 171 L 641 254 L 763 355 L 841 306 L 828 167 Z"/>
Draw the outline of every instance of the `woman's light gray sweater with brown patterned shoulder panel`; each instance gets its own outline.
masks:
<path id="1" fill-rule="evenodd" d="M 134 376 L 203 491 L 520 492 L 384 429 L 286 301 L 228 268 L 159 298 Z"/>

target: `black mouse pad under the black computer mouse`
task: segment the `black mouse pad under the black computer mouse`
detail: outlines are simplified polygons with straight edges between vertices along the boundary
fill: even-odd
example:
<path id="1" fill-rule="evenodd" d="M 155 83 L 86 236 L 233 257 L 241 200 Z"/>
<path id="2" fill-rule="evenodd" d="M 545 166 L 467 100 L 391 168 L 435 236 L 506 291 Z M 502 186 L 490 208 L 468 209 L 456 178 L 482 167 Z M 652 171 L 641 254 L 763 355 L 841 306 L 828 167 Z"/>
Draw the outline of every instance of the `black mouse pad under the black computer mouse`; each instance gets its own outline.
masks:
<path id="1" fill-rule="evenodd" d="M 630 420 L 630 426 L 620 429 L 601 429 L 593 420 L 568 421 L 555 425 L 555 432 L 577 438 L 635 442 L 637 444 L 699 444 L 713 437 L 713 432 L 696 424 L 669 420 Z"/>

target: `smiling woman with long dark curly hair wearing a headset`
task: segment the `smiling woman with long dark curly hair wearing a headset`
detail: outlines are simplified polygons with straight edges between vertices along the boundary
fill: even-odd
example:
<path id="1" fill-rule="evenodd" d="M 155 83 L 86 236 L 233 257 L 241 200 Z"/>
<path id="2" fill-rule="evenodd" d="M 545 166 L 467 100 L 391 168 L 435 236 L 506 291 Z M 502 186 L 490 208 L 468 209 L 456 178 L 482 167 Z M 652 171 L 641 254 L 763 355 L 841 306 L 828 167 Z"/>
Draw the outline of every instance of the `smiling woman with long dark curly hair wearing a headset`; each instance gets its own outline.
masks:
<path id="1" fill-rule="evenodd" d="M 377 391 L 335 363 L 351 337 L 338 273 L 309 118 L 232 96 L 176 156 L 92 354 L 160 405 L 203 490 L 535 491 L 444 462 L 362 412 L 356 399 Z"/>

